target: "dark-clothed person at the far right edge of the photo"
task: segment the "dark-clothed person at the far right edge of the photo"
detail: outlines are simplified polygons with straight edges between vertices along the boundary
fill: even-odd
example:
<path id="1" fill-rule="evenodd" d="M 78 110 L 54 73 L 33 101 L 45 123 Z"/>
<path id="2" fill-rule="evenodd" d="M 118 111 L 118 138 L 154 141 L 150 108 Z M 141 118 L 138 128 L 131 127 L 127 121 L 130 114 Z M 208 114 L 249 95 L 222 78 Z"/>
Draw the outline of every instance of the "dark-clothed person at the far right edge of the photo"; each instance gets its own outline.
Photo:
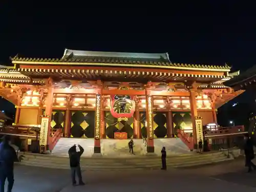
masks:
<path id="1" fill-rule="evenodd" d="M 245 134 L 244 141 L 245 166 L 248 167 L 248 172 L 251 172 L 252 167 L 256 169 L 256 165 L 251 162 L 254 159 L 253 144 L 248 134 Z"/>

